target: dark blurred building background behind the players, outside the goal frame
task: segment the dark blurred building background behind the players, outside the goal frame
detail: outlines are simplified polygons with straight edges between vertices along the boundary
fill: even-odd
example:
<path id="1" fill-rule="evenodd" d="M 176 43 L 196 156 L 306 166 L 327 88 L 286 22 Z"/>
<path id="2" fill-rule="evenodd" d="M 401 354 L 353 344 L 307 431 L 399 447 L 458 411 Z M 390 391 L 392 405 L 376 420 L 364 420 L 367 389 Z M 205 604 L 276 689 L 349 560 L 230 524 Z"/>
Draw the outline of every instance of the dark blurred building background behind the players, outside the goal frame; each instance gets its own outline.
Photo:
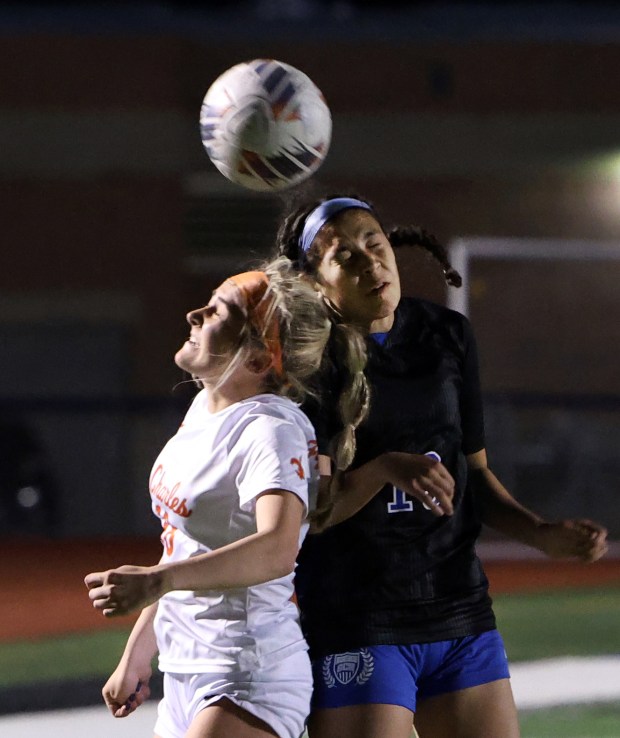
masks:
<path id="1" fill-rule="evenodd" d="M 620 254 L 615 3 L 262 0 L 0 9 L 0 532 L 156 532 L 150 465 L 191 395 L 185 312 L 266 254 L 278 196 L 199 138 L 211 82 L 280 59 L 333 114 L 312 184 L 453 247 Z M 420 254 L 405 291 L 446 302 Z M 620 536 L 617 257 L 478 259 L 467 281 L 492 466 Z"/>

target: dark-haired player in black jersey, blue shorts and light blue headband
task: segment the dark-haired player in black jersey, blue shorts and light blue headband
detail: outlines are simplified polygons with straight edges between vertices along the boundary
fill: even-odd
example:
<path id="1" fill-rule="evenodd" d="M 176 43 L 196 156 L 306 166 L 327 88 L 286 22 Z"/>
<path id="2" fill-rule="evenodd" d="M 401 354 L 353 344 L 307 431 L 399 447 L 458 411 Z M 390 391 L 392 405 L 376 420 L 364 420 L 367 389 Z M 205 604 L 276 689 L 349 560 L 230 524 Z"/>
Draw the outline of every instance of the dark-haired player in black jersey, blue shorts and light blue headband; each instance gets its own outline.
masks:
<path id="1" fill-rule="evenodd" d="M 476 343 L 467 318 L 403 298 L 393 246 L 428 249 L 425 231 L 386 232 L 372 205 L 330 196 L 291 212 L 280 253 L 312 276 L 340 319 L 369 336 L 371 410 L 340 480 L 327 530 L 297 568 L 314 668 L 311 738 L 518 738 L 504 646 L 475 543 L 484 522 L 554 557 L 594 561 L 606 531 L 548 523 L 487 465 Z M 324 388 L 315 427 L 329 424 Z M 326 453 L 325 447 L 320 450 Z M 435 452 L 441 458 L 429 457 Z"/>

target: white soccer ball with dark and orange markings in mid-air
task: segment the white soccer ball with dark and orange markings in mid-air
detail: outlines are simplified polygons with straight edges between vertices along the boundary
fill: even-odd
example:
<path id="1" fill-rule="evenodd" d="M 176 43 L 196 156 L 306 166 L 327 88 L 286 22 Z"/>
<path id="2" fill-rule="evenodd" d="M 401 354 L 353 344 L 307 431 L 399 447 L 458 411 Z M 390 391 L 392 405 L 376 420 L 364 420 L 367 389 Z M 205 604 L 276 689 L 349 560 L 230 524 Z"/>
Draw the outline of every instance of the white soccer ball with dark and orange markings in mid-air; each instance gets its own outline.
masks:
<path id="1" fill-rule="evenodd" d="M 200 110 L 200 138 L 232 182 L 261 192 L 310 177 L 331 141 L 331 113 L 303 72 L 274 59 L 236 64 L 209 87 Z"/>

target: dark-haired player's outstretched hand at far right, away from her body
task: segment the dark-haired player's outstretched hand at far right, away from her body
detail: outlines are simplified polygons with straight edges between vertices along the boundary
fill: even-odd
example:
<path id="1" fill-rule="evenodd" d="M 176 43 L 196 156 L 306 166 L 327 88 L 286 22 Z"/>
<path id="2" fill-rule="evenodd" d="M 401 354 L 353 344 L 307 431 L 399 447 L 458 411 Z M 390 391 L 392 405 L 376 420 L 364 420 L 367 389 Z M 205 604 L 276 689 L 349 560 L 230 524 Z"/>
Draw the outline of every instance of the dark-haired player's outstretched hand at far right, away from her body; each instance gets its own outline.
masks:
<path id="1" fill-rule="evenodd" d="M 607 531 L 591 520 L 560 520 L 539 527 L 540 549 L 554 559 L 597 561 L 607 552 Z"/>

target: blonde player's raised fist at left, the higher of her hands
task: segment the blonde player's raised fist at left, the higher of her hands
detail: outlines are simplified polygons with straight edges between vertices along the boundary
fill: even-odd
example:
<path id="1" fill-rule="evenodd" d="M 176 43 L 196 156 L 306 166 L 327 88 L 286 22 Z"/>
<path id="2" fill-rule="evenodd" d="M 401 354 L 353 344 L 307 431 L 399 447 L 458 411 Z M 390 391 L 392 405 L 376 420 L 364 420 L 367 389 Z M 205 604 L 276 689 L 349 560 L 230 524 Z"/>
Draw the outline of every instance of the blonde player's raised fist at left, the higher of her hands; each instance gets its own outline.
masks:
<path id="1" fill-rule="evenodd" d="M 142 609 L 168 591 L 165 569 L 159 566 L 119 566 L 87 574 L 84 583 L 93 607 L 106 617 Z"/>

